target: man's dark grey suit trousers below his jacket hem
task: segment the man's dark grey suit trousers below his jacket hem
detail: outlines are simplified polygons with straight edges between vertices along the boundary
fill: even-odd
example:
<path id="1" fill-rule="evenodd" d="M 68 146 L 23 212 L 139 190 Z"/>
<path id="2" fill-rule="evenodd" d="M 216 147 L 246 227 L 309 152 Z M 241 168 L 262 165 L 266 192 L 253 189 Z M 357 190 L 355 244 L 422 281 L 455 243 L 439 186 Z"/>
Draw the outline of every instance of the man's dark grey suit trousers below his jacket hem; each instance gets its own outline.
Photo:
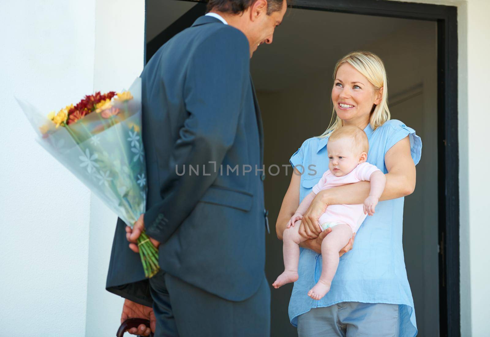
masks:
<path id="1" fill-rule="evenodd" d="M 160 271 L 150 278 L 155 337 L 268 337 L 270 289 L 266 277 L 258 291 L 232 302 Z"/>

